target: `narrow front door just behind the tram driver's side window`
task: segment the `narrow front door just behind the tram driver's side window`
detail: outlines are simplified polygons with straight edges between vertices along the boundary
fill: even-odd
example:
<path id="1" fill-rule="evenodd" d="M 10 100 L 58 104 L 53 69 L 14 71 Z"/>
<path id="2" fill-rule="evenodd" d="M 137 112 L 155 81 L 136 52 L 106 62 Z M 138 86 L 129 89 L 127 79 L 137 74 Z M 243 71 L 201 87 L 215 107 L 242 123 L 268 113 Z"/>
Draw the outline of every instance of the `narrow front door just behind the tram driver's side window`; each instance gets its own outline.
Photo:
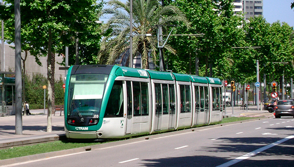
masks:
<path id="1" fill-rule="evenodd" d="M 126 134 L 130 134 L 132 132 L 132 89 L 131 89 L 131 81 L 126 81 L 127 86 L 127 122 L 126 122 Z"/>

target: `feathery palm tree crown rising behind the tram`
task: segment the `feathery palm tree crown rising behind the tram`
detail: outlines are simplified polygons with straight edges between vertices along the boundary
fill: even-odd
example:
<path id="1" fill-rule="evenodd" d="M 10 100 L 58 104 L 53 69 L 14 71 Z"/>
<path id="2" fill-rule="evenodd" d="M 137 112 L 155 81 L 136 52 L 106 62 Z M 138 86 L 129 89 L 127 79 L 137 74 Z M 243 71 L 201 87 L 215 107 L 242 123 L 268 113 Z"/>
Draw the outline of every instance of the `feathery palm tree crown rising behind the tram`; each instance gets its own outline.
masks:
<path id="1" fill-rule="evenodd" d="M 103 25 L 105 38 L 102 39 L 98 54 L 99 64 L 114 64 L 119 55 L 129 48 L 130 38 L 130 3 L 122 3 L 118 0 L 108 2 L 112 8 L 102 11 L 102 15 L 111 15 L 111 18 Z M 190 27 L 186 16 L 174 6 L 161 6 L 158 0 L 136 0 L 133 2 L 133 50 L 132 53 L 140 53 L 142 68 L 149 68 L 148 52 L 156 58 L 157 50 L 157 25 L 175 24 L 182 22 Z M 145 36 L 151 33 L 153 36 Z M 164 47 L 175 54 L 170 46 Z"/>

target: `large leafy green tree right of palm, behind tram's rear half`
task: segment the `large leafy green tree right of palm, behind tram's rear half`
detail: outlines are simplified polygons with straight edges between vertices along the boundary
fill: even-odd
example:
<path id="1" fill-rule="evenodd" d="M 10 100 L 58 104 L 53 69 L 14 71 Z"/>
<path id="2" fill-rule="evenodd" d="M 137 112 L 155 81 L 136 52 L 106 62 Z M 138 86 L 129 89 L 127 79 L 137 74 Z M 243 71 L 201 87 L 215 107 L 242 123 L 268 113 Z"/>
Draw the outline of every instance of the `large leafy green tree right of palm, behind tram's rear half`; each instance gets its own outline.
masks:
<path id="1" fill-rule="evenodd" d="M 232 47 L 243 42 L 242 15 L 233 15 L 232 0 L 179 0 L 174 6 L 179 7 L 191 21 L 191 29 L 177 27 L 175 34 L 202 34 L 200 36 L 176 36 L 169 39 L 169 44 L 177 51 L 176 56 L 169 56 L 169 67 L 175 72 L 194 74 L 195 59 L 199 58 L 200 75 L 208 76 L 208 69 L 213 64 L 213 76 L 222 79 L 231 76 L 229 67 Z M 189 62 L 189 63 L 188 63 Z M 193 63 L 192 63 L 193 62 Z"/>

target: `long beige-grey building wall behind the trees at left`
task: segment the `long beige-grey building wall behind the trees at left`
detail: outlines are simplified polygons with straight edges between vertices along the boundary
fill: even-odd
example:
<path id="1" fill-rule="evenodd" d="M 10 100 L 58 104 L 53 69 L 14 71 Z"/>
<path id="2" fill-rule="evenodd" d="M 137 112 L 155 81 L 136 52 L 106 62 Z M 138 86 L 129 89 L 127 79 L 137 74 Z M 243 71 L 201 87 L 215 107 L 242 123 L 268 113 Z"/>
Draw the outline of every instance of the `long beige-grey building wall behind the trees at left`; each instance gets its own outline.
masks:
<path id="1" fill-rule="evenodd" d="M 1 48 L 0 44 L 0 48 Z M 12 48 L 14 46 L 12 45 L 4 45 L 4 60 L 3 62 L 5 63 L 5 70 L 1 69 L 1 71 L 5 72 L 15 72 L 15 50 Z M 2 53 L 1 53 L 2 56 Z M 21 53 L 21 57 L 24 58 L 25 53 Z M 40 56 L 38 57 L 40 59 L 40 62 L 42 63 L 42 66 L 39 66 L 35 62 L 35 57 L 31 56 L 28 53 L 27 59 L 25 61 L 25 69 L 26 69 L 26 74 L 32 77 L 33 74 L 40 73 L 47 77 L 47 56 Z M 64 70 L 59 70 L 59 67 L 63 67 L 58 63 L 61 63 L 63 61 L 62 56 L 56 56 L 55 57 L 55 79 L 58 80 L 60 77 L 64 79 L 65 77 L 65 71 Z M 1 65 L 2 63 L 1 62 Z M 23 62 L 21 62 L 21 68 L 23 67 Z"/>

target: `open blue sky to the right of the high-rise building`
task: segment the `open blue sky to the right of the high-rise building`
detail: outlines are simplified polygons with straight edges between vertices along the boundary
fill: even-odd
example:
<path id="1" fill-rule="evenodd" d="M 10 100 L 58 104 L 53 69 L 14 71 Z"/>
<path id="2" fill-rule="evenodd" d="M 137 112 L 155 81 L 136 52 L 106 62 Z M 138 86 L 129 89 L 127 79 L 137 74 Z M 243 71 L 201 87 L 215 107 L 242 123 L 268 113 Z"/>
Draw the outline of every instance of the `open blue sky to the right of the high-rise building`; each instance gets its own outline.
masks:
<path id="1" fill-rule="evenodd" d="M 264 0 L 264 18 L 271 24 L 280 20 L 294 27 L 294 10 L 290 7 L 292 2 L 293 0 Z"/>

